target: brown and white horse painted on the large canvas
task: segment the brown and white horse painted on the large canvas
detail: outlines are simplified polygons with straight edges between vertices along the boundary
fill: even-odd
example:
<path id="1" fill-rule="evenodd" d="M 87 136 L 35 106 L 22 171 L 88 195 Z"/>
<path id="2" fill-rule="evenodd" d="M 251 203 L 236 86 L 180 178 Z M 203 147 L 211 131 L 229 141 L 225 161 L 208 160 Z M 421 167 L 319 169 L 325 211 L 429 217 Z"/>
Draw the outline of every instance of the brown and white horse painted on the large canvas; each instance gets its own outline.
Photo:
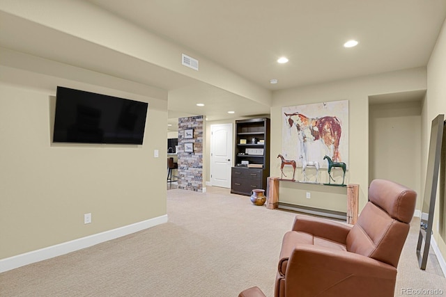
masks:
<path id="1" fill-rule="evenodd" d="M 332 154 L 333 161 L 341 161 L 339 142 L 341 140 L 341 121 L 335 116 L 309 118 L 302 113 L 284 113 L 289 127 L 298 130 L 300 151 L 307 160 L 307 143 L 321 140 Z"/>

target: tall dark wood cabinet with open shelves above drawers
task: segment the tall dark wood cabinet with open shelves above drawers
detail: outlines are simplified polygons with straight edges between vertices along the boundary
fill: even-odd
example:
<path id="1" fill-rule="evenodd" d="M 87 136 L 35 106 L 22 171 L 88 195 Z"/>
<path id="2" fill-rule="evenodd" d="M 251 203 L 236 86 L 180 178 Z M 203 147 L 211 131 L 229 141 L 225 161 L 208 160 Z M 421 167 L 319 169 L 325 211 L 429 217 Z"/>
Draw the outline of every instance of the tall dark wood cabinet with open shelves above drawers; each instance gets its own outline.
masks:
<path id="1" fill-rule="evenodd" d="M 236 121 L 235 166 L 231 193 L 251 195 L 254 188 L 266 190 L 270 175 L 270 119 Z"/>

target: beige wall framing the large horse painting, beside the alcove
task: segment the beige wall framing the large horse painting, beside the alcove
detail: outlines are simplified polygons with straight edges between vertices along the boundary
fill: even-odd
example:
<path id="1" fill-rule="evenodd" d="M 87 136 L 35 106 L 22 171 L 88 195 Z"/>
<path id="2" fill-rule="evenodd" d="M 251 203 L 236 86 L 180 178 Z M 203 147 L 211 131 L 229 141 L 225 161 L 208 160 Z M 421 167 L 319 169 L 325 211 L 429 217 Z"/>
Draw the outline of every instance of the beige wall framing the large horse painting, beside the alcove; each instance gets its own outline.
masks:
<path id="1" fill-rule="evenodd" d="M 280 177 L 280 162 L 275 157 L 282 151 L 282 107 L 337 100 L 349 101 L 349 170 L 346 184 L 360 185 L 360 209 L 367 202 L 369 185 L 369 100 L 370 95 L 426 89 L 424 67 L 358 77 L 345 81 L 281 90 L 273 93 L 271 107 L 271 176 Z M 298 169 L 299 170 L 299 169 Z M 328 182 L 326 170 L 321 181 Z M 329 194 L 323 194 L 329 195 Z"/>

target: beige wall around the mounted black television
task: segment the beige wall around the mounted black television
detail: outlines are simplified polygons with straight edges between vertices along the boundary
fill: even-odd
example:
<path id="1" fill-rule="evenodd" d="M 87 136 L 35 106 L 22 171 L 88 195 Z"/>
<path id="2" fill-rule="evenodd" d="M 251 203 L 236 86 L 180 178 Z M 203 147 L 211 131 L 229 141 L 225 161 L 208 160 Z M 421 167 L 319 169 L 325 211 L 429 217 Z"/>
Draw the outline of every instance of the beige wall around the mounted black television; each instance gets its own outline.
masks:
<path id="1" fill-rule="evenodd" d="M 167 214 L 166 99 L 10 67 L 0 72 L 0 259 Z M 144 144 L 53 144 L 58 85 L 148 102 Z"/>

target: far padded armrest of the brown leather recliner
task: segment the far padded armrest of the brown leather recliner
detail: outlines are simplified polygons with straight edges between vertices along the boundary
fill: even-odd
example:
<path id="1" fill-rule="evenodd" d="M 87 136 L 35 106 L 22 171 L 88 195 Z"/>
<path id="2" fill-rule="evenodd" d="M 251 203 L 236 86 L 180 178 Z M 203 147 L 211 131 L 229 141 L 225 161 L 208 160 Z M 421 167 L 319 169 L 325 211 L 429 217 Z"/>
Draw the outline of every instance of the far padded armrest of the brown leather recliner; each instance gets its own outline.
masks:
<path id="1" fill-rule="evenodd" d="M 326 218 L 297 215 L 294 218 L 292 230 L 307 232 L 345 245 L 351 227 L 351 225 L 337 223 Z"/>

